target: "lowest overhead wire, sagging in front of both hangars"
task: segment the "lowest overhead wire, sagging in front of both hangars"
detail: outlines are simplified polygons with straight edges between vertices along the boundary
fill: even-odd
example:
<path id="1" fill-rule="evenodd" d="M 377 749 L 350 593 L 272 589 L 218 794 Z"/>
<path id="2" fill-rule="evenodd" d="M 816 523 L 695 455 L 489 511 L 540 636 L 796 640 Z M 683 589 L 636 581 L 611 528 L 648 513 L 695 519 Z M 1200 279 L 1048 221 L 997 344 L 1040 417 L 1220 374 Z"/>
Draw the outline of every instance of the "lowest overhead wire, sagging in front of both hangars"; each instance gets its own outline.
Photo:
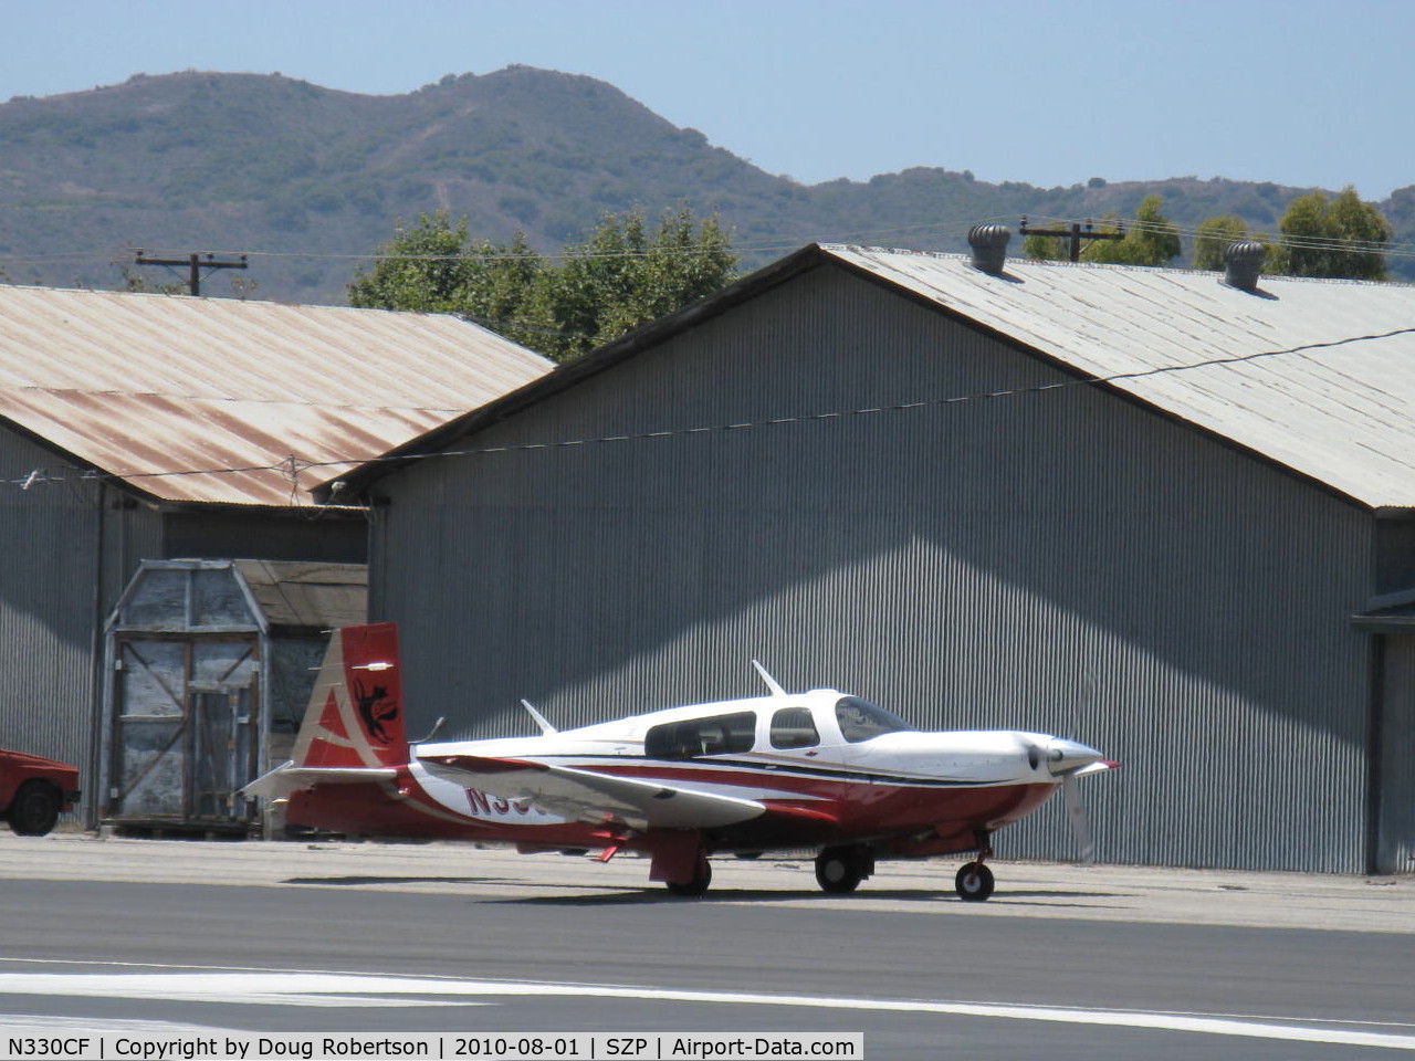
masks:
<path id="1" fill-rule="evenodd" d="M 133 472 L 83 471 L 79 474 L 78 478 L 126 481 L 126 480 L 147 480 L 147 478 L 177 478 L 188 475 L 224 475 L 224 474 L 248 474 L 259 471 L 282 471 L 291 481 L 291 498 L 293 498 L 294 488 L 299 482 L 299 475 L 303 471 L 308 471 L 311 468 L 347 468 L 347 467 L 362 467 L 368 464 L 398 464 L 398 463 L 409 463 L 419 460 L 439 460 L 444 457 L 477 457 L 477 456 L 490 456 L 498 453 L 522 453 L 532 450 L 563 450 L 582 446 L 599 446 L 606 443 L 648 441 L 652 439 L 675 439 L 675 437 L 689 437 L 699 434 L 719 434 L 726 431 L 739 431 L 754 427 L 774 427 L 780 424 L 818 423 L 822 420 L 845 420 L 856 416 L 877 416 L 883 413 L 900 413 L 914 409 L 932 409 L 942 406 L 966 405 L 971 402 L 986 402 L 999 398 L 1040 395 L 1054 390 L 1068 390 L 1081 386 L 1119 383 L 1131 379 L 1148 379 L 1155 376 L 1174 375 L 1179 372 L 1190 372 L 1201 368 L 1242 365 L 1254 361 L 1262 361 L 1266 358 L 1289 356 L 1293 354 L 1307 354 L 1320 349 L 1334 349 L 1337 347 L 1347 347 L 1356 342 L 1371 342 L 1377 340 L 1395 338 L 1398 335 L 1415 335 L 1415 327 L 1395 328 L 1392 331 L 1373 332 L 1368 335 L 1350 335 L 1347 338 L 1326 340 L 1322 342 L 1305 342 L 1302 345 L 1286 347 L 1283 349 L 1268 349 L 1268 351 L 1258 351 L 1254 354 L 1235 354 L 1232 356 L 1210 358 L 1207 361 L 1196 361 L 1189 365 L 1162 365 L 1159 368 L 1139 369 L 1135 372 L 1115 372 L 1107 376 L 1088 376 L 1085 379 L 1064 379 L 1056 383 L 1037 383 L 1033 386 L 1009 388 L 1003 390 L 975 392 L 969 395 L 957 395 L 952 398 L 927 398 L 913 402 L 899 402 L 894 405 L 866 406 L 860 409 L 838 409 L 821 413 L 774 416 L 764 420 L 744 420 L 739 423 L 705 424 L 698 427 L 675 427 L 657 431 L 638 431 L 631 434 L 604 434 L 586 439 L 569 439 L 560 441 L 508 443 L 505 446 L 485 446 L 470 450 L 439 450 L 437 453 L 415 453 L 415 454 L 383 456 L 383 457 L 348 457 L 348 458 L 337 458 L 327 461 L 306 461 L 296 457 L 294 454 L 290 454 L 289 457 L 276 464 L 245 465 L 236 468 L 229 468 L 229 467 L 191 468 L 183 471 L 133 471 Z M 37 468 L 23 478 L 0 480 L 0 484 L 17 485 L 21 489 L 30 489 L 31 487 L 38 484 L 67 482 L 67 481 L 71 480 L 65 478 L 62 474 L 52 475 L 44 470 Z"/>

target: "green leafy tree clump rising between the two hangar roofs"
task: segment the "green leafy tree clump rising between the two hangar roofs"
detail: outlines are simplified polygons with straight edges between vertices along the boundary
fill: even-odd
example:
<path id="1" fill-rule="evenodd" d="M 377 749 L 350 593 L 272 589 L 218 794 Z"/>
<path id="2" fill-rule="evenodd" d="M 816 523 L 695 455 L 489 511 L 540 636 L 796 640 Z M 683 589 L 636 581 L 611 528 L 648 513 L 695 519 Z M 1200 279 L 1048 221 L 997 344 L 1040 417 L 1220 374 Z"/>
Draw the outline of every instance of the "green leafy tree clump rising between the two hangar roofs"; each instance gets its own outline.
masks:
<path id="1" fill-rule="evenodd" d="M 555 265 L 521 233 L 474 243 L 466 219 L 423 215 L 399 226 L 371 270 L 350 284 L 354 306 L 456 313 L 558 361 L 567 361 L 729 283 L 737 266 L 716 218 L 666 212 L 649 232 L 642 212 L 606 214 Z"/>

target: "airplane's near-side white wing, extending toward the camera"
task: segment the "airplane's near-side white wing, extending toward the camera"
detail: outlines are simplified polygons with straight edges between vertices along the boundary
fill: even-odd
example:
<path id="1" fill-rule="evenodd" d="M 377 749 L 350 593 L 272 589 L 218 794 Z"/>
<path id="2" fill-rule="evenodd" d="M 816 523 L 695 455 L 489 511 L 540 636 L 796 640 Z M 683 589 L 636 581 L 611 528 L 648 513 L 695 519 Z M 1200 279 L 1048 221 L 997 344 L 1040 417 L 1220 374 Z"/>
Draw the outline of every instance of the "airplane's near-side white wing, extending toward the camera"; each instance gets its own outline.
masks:
<path id="1" fill-rule="evenodd" d="M 767 808 L 756 799 L 705 792 L 682 784 L 596 774 L 524 760 L 480 755 L 419 758 L 430 772 L 502 799 L 583 822 L 621 821 L 634 829 L 712 829 L 746 822 Z"/>

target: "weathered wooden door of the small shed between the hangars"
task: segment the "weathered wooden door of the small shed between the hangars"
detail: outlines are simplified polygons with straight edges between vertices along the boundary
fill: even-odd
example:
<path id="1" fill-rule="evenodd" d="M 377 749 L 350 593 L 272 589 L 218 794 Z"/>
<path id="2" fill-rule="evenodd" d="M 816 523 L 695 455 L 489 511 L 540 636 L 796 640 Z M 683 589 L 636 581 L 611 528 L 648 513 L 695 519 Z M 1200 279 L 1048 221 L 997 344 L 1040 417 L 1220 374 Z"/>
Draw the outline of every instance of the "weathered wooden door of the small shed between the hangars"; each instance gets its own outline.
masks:
<path id="1" fill-rule="evenodd" d="M 258 765 L 258 655 L 255 637 L 116 637 L 109 819 L 250 821 L 236 791 Z"/>

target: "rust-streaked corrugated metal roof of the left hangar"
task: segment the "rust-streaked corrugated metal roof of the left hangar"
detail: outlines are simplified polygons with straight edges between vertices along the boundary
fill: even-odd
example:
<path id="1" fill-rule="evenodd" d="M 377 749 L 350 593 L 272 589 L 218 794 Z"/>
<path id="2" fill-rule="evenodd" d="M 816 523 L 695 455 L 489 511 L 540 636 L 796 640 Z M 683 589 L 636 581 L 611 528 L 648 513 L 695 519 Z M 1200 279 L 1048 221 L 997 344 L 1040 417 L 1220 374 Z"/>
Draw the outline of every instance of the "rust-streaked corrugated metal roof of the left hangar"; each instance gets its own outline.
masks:
<path id="1" fill-rule="evenodd" d="M 550 368 L 450 315 L 0 286 L 0 417 L 161 501 L 304 504 Z"/>

